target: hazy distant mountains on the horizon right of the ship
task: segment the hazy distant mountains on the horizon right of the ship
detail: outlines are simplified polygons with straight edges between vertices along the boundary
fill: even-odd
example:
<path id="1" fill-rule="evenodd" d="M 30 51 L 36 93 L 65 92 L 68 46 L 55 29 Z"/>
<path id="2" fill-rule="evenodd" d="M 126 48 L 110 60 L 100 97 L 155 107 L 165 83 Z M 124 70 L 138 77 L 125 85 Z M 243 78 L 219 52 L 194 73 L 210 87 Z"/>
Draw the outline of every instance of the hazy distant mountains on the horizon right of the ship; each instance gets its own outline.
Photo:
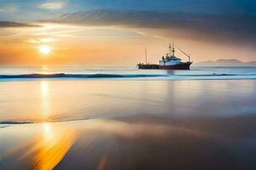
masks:
<path id="1" fill-rule="evenodd" d="M 195 63 L 196 66 L 256 66 L 256 61 L 243 62 L 238 59 L 218 59 Z"/>

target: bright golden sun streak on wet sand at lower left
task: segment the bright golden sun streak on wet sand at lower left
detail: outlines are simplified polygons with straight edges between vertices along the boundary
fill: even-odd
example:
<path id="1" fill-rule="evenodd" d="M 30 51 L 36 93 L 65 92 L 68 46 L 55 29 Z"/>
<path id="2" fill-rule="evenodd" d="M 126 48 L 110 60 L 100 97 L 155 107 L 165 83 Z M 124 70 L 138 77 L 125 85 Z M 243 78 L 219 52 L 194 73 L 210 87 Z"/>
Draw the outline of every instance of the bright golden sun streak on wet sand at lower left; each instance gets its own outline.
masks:
<path id="1" fill-rule="evenodd" d="M 73 130 L 42 123 L 42 135 L 26 151 L 22 159 L 32 157 L 32 169 L 35 170 L 53 169 L 66 156 L 75 140 Z"/>

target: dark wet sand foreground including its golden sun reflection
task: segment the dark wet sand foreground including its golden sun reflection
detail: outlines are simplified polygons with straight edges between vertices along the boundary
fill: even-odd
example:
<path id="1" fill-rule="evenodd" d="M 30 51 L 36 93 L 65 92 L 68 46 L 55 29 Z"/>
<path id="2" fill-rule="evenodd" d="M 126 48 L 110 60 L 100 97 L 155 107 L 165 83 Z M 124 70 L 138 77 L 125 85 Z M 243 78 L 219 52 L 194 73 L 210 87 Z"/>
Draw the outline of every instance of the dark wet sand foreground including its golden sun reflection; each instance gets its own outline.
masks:
<path id="1" fill-rule="evenodd" d="M 4 133 L 8 128 L 14 131 L 27 128 L 34 135 L 26 146 L 3 157 L 0 166 L 3 170 L 253 169 L 256 136 L 241 133 L 245 127 L 255 130 L 256 119 L 251 117 L 251 120 L 168 122 L 134 117 L 6 127 L 0 130 L 1 138 L 13 138 Z M 232 130 L 219 126 L 223 122 Z M 235 134 L 239 133 L 238 139 Z M 12 147 L 9 145 L 9 149 Z"/>

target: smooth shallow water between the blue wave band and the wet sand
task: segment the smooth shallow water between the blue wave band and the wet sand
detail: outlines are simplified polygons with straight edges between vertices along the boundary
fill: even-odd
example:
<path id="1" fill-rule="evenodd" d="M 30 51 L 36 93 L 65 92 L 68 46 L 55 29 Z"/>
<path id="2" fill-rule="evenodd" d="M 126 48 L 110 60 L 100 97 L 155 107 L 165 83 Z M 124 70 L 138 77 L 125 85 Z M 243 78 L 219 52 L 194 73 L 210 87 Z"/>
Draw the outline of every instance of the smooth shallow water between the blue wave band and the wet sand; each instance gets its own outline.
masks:
<path id="1" fill-rule="evenodd" d="M 0 121 L 250 116 L 256 81 L 29 81 L 0 83 Z"/>

